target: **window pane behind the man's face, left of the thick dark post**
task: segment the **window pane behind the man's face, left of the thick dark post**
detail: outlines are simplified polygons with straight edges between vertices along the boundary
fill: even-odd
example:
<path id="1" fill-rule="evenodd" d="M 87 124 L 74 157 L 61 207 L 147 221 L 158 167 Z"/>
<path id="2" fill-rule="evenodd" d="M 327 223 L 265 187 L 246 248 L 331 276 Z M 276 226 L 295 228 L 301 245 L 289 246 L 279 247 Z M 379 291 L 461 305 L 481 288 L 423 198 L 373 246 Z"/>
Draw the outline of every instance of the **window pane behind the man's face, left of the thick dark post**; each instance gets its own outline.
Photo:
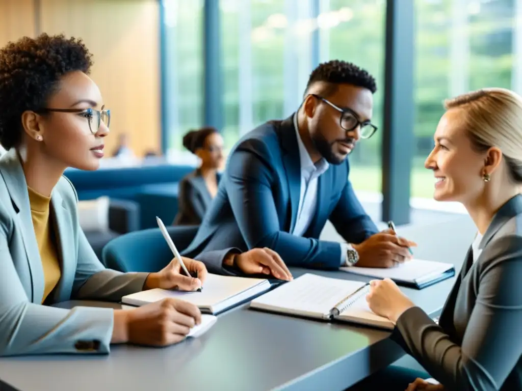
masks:
<path id="1" fill-rule="evenodd" d="M 380 193 L 386 2 L 321 0 L 319 4 L 321 62 L 350 61 L 365 68 L 377 81 L 372 123 L 379 130 L 371 139 L 361 140 L 350 155 L 350 180 L 355 190 Z"/>

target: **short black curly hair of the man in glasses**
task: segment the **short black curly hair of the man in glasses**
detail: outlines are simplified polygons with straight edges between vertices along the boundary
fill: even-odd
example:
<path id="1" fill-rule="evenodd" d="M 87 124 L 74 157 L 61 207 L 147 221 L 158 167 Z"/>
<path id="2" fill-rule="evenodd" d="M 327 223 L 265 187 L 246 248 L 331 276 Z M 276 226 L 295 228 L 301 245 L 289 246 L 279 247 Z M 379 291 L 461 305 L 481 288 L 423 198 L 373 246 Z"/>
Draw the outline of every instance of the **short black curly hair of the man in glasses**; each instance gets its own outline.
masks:
<path id="1" fill-rule="evenodd" d="M 372 75 L 366 70 L 355 64 L 342 60 L 331 60 L 327 63 L 319 64 L 312 71 L 308 84 L 306 84 L 305 95 L 315 82 L 323 81 L 333 84 L 337 88 L 337 84 L 352 84 L 370 90 L 373 93 L 377 91 L 377 84 Z M 330 91 L 333 93 L 334 91 Z"/>

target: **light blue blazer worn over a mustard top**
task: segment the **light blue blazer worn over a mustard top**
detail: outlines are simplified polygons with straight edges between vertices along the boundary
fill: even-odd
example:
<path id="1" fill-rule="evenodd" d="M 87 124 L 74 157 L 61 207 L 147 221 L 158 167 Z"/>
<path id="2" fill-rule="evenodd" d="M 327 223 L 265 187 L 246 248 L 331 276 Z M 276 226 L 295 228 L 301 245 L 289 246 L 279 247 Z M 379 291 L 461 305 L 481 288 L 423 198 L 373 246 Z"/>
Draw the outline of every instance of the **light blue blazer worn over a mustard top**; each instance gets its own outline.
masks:
<path id="1" fill-rule="evenodd" d="M 60 178 L 51 194 L 62 277 L 52 302 L 119 301 L 140 291 L 147 273 L 106 269 L 79 226 L 73 185 Z M 108 353 L 113 310 L 42 306 L 43 268 L 32 225 L 27 183 L 14 149 L 0 158 L 0 356 Z"/>

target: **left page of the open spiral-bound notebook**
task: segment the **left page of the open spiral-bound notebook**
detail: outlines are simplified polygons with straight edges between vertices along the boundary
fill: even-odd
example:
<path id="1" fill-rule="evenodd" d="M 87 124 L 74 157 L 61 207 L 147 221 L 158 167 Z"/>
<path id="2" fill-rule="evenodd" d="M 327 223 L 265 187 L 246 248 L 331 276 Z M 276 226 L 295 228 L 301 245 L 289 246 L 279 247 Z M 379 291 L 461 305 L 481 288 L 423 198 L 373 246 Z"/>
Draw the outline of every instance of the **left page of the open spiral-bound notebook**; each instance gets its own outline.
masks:
<path id="1" fill-rule="evenodd" d="M 254 299 L 254 308 L 323 316 L 364 283 L 304 274 Z"/>

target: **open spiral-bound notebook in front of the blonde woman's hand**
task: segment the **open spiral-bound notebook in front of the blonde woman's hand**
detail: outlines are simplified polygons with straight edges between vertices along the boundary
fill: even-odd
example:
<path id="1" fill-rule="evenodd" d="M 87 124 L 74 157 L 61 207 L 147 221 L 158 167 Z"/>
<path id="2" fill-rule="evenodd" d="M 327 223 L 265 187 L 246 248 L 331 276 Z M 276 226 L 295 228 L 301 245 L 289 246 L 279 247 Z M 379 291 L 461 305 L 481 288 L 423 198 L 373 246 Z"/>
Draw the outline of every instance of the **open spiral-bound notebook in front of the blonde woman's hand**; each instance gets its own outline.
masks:
<path id="1" fill-rule="evenodd" d="M 393 329 L 395 325 L 391 321 L 368 308 L 368 291 L 366 283 L 307 273 L 252 300 L 250 307 Z"/>

